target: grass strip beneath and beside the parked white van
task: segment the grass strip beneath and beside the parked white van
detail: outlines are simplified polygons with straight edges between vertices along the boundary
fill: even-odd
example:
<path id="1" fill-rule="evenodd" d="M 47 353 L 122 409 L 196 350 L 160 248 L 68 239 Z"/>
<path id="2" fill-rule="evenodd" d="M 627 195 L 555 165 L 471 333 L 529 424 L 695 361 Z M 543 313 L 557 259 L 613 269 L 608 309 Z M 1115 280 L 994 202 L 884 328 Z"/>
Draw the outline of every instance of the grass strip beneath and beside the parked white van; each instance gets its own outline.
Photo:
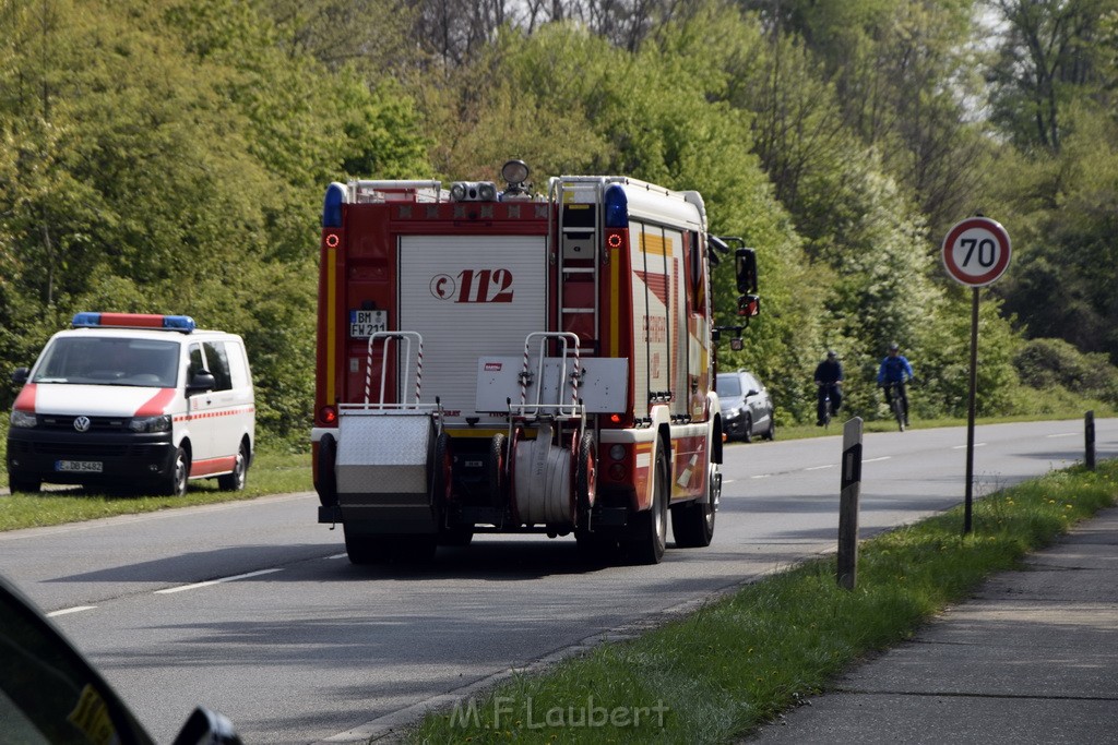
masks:
<path id="1" fill-rule="evenodd" d="M 3 472 L 3 486 L 8 475 Z M 0 496 L 0 531 L 77 523 L 97 517 L 150 513 L 188 505 L 250 499 L 266 494 L 309 491 L 310 453 L 290 455 L 257 450 L 243 491 L 221 491 L 215 479 L 191 481 L 186 496 L 113 495 L 84 489 L 45 490 Z"/>

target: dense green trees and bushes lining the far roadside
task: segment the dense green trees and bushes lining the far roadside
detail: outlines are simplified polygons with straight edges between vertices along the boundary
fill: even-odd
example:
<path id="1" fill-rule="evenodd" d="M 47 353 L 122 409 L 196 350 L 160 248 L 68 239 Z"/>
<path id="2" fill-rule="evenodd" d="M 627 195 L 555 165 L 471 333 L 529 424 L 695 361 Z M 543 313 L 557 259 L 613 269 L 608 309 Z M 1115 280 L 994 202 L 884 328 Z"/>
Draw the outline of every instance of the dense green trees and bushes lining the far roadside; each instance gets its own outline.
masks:
<path id="1" fill-rule="evenodd" d="M 994 68 L 969 44 L 969 0 L 651 3 L 610 9 L 601 35 L 472 16 L 455 32 L 484 34 L 447 41 L 470 61 L 442 66 L 408 42 L 434 28 L 419 6 L 4 3 L 0 361 L 29 364 L 75 311 L 189 313 L 248 338 L 263 436 L 305 447 L 325 184 L 495 179 L 517 156 L 537 184 L 695 189 L 712 232 L 757 248 L 762 314 L 719 364 L 756 371 L 783 424 L 814 416 L 827 347 L 850 410 L 883 416 L 872 381 L 893 340 L 921 380 L 918 416 L 965 410 L 969 303 L 938 241 L 963 214 L 996 214 L 1014 262 L 984 294 L 979 411 L 1051 410 L 1079 390 L 1024 393 L 1024 335 L 1118 360 L 1115 1 L 998 3 Z M 1042 112 L 1059 147 L 1023 139 L 1030 38 L 1067 42 L 1049 50 Z M 729 262 L 712 276 L 718 323 L 736 325 Z M 13 394 L 0 376 L 0 405 Z"/>

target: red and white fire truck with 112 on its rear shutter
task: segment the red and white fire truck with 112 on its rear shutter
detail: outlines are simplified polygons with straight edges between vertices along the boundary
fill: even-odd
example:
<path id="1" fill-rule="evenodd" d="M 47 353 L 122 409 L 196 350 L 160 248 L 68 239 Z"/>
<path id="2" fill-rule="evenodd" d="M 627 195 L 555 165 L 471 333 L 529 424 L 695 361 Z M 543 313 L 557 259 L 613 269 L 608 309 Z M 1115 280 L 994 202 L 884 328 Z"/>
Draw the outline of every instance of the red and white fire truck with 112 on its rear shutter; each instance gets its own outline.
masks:
<path id="1" fill-rule="evenodd" d="M 676 547 L 713 537 L 710 270 L 729 242 L 695 191 L 565 175 L 541 194 L 528 175 L 326 189 L 314 486 L 354 564 L 479 533 L 655 564 L 669 516 Z M 735 264 L 748 322 L 752 249 Z"/>

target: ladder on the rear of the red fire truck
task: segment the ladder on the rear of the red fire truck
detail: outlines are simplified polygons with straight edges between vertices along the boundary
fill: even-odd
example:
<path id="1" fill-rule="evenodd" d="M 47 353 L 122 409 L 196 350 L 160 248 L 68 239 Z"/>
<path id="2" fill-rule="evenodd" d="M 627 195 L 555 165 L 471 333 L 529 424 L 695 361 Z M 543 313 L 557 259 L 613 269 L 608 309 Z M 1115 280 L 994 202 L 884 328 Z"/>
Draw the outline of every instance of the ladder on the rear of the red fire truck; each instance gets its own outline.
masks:
<path id="1" fill-rule="evenodd" d="M 565 176 L 551 184 L 549 201 L 558 209 L 552 212 L 555 225 L 548 227 L 548 240 L 555 247 L 557 283 L 557 329 L 578 336 L 579 353 L 601 354 L 598 329 L 601 273 L 606 259 L 598 256 L 601 245 L 603 197 L 607 180 L 600 176 Z"/>

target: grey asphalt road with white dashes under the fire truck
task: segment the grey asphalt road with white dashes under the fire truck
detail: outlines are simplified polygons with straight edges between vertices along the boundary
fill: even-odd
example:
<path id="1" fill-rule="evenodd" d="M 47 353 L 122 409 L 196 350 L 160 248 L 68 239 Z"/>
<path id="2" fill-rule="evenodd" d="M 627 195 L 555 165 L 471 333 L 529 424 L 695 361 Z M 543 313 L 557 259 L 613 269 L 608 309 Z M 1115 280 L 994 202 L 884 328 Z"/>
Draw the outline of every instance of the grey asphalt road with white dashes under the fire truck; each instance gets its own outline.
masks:
<path id="1" fill-rule="evenodd" d="M 1083 459 L 1082 422 L 980 426 L 975 496 Z M 1118 419 L 1096 422 L 1099 459 Z M 862 537 L 961 502 L 963 428 L 868 434 Z M 727 449 L 709 548 L 588 567 L 571 537 L 479 536 L 425 571 L 356 567 L 313 495 L 0 534 L 0 571 L 171 741 L 195 705 L 246 743 L 363 742 L 512 667 L 834 551 L 839 436 Z M 960 525 L 961 529 L 961 525 Z"/>

